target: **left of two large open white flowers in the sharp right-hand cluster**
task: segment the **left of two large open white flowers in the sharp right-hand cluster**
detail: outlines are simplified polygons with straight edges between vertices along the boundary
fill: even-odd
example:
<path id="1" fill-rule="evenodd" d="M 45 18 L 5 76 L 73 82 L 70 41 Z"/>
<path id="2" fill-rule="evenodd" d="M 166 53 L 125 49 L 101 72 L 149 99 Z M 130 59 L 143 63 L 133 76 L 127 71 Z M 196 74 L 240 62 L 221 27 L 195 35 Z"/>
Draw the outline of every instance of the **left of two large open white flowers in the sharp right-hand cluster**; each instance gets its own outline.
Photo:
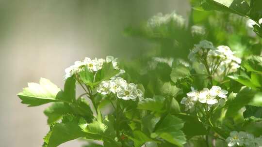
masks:
<path id="1" fill-rule="evenodd" d="M 207 104 L 218 103 L 217 99 L 215 99 L 215 96 L 210 95 L 208 88 L 204 88 L 203 90 L 200 91 L 198 96 L 198 101 L 200 103 L 207 103 Z"/>

